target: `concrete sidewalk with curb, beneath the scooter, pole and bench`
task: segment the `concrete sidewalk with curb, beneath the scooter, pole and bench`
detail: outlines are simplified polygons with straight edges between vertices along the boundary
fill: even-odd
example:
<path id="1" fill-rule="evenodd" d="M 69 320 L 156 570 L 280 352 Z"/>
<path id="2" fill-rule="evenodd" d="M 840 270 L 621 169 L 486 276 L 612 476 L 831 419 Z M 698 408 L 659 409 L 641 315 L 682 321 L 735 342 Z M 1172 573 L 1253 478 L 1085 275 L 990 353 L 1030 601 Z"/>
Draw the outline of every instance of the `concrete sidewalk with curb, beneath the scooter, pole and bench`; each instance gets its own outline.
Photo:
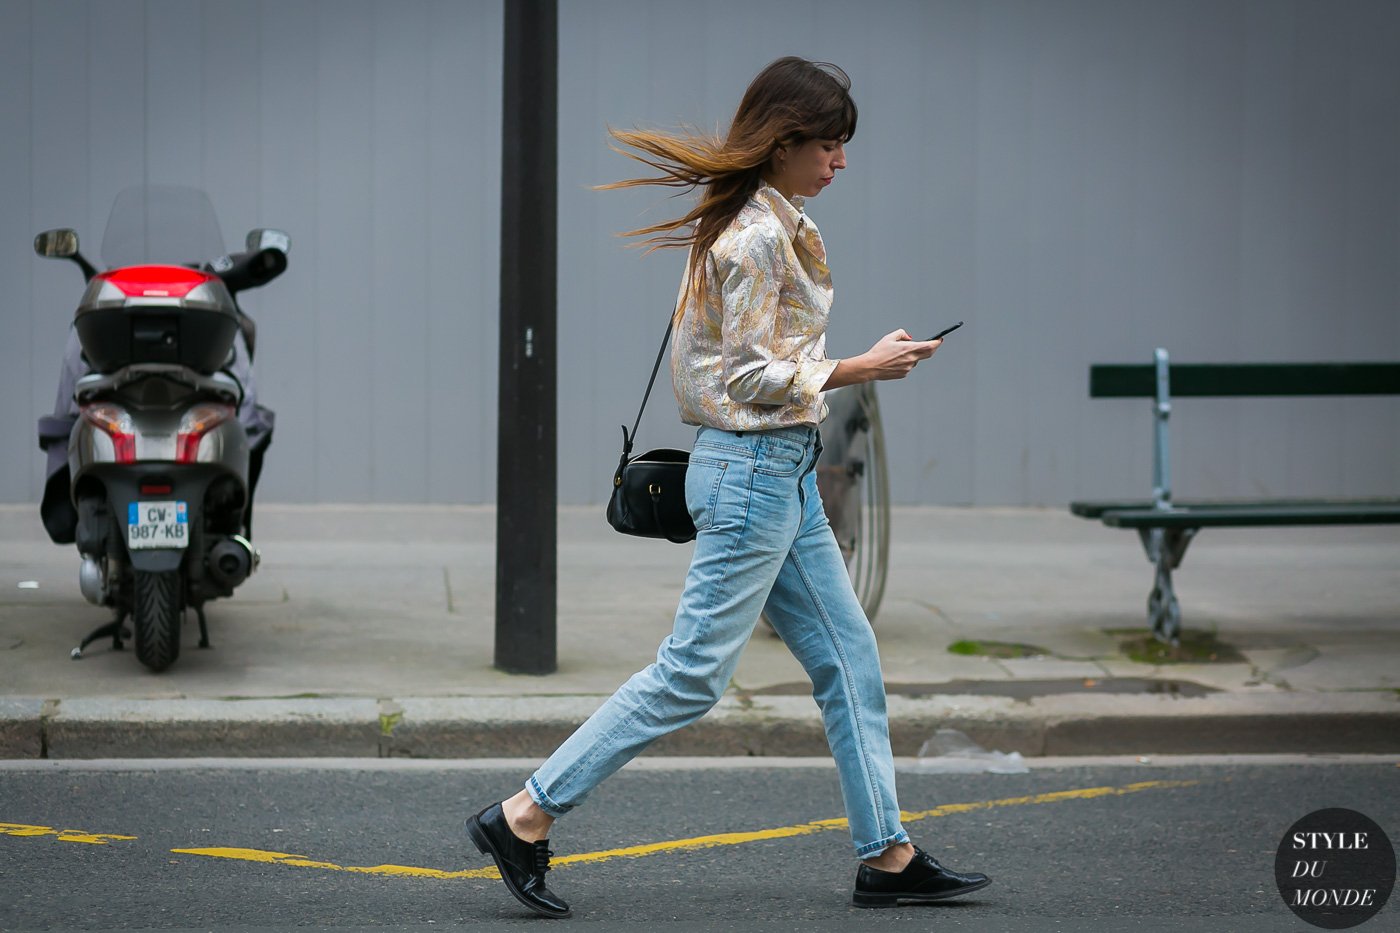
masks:
<path id="1" fill-rule="evenodd" d="M 104 609 L 34 506 L 0 506 L 0 756 L 540 756 L 671 626 L 690 546 L 563 509 L 559 672 L 501 674 L 494 510 L 259 507 L 262 569 L 193 615 L 181 658 L 69 651 Z M 36 588 L 35 588 L 36 584 Z M 1135 535 L 1035 509 L 899 509 L 875 619 L 896 755 L 939 727 L 1023 755 L 1400 751 L 1400 528 L 1208 530 L 1177 573 L 1187 630 L 1238 660 L 1149 665 Z M 949 653 L 1014 642 L 1015 660 Z M 655 754 L 822 755 L 802 670 L 757 630 L 729 692 Z"/>

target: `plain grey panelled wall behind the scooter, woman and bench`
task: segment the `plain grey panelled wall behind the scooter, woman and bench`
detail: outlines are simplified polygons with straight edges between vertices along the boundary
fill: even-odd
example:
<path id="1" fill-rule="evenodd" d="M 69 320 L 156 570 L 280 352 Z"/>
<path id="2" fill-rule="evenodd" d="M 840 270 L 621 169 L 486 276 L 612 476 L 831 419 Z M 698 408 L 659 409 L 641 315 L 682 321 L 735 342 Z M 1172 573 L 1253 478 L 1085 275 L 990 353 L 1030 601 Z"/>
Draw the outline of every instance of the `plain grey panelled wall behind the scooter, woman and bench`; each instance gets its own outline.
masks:
<path id="1" fill-rule="evenodd" d="M 115 192 L 210 191 L 225 238 L 293 234 L 246 307 L 279 412 L 263 495 L 490 502 L 496 471 L 497 1 L 3 0 L 0 500 L 39 492 L 77 276 L 28 252 Z M 85 24 L 85 25 L 84 25 Z M 735 28 L 735 24 L 743 24 Z M 11 48 L 13 46 L 13 48 Z M 615 234 L 685 209 L 606 125 L 715 129 L 797 53 L 855 81 L 850 170 L 811 205 L 829 349 L 956 319 L 881 385 L 896 502 L 1142 495 L 1147 402 L 1093 361 L 1396 359 L 1400 7 L 1392 0 L 598 0 L 560 10 L 560 496 L 601 502 L 683 256 Z M 36 78 L 32 84 L 28 76 Z M 32 293 L 29 289 L 32 280 Z M 685 445 L 662 378 L 638 440 Z M 1179 495 L 1396 493 L 1394 399 L 1186 401 Z M 18 452 L 17 452 L 18 451 Z"/>

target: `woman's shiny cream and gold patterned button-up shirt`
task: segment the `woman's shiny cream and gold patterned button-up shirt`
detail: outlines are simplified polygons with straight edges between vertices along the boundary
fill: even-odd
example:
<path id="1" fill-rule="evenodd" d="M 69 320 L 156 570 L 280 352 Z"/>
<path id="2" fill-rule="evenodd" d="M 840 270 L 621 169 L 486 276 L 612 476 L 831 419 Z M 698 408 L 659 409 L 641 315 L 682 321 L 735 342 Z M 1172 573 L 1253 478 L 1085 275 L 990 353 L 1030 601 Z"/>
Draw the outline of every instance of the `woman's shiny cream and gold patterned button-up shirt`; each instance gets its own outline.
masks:
<path id="1" fill-rule="evenodd" d="M 802 212 L 804 199 L 763 185 L 710 248 L 704 307 L 682 282 L 671 385 L 686 424 L 760 431 L 826 417 L 832 275 Z"/>

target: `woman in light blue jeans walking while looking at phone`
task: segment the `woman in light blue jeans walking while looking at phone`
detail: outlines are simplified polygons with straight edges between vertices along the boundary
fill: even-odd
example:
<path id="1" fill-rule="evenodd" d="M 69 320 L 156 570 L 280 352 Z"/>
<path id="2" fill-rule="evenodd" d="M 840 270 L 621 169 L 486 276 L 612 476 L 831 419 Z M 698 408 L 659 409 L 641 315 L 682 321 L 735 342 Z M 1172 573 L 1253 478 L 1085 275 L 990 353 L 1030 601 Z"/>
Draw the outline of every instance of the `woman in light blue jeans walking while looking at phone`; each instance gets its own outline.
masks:
<path id="1" fill-rule="evenodd" d="M 654 740 L 714 706 L 760 612 L 812 678 L 861 860 L 854 904 L 895 906 L 990 884 L 942 867 L 900 825 L 875 636 L 816 490 L 822 394 L 903 378 L 939 345 L 895 331 L 860 356 L 826 356 L 832 280 L 804 199 L 846 168 L 855 115 L 844 71 L 785 57 L 753 78 L 724 140 L 613 132 L 641 153 L 629 156 L 664 174 L 608 188 L 701 192 L 685 217 L 629 234 L 690 249 L 671 377 L 680 417 L 699 427 L 686 472 L 699 535 L 657 661 L 519 793 L 466 822 L 511 894 L 546 916 L 570 915 L 545 885 L 550 825 Z"/>

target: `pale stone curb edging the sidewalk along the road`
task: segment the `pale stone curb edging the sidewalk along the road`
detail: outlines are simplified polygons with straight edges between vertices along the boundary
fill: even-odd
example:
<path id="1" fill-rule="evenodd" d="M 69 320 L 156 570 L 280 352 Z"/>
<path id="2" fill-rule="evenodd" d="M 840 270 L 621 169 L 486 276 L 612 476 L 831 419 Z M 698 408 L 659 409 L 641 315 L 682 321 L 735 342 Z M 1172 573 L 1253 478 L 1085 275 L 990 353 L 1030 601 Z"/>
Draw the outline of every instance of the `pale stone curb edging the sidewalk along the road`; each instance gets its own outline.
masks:
<path id="1" fill-rule="evenodd" d="M 602 696 L 343 699 L 0 699 L 0 758 L 543 758 Z M 1400 754 L 1400 696 L 889 698 L 896 756 L 938 728 L 983 748 L 1049 755 Z M 825 756 L 805 696 L 725 696 L 652 755 Z"/>

